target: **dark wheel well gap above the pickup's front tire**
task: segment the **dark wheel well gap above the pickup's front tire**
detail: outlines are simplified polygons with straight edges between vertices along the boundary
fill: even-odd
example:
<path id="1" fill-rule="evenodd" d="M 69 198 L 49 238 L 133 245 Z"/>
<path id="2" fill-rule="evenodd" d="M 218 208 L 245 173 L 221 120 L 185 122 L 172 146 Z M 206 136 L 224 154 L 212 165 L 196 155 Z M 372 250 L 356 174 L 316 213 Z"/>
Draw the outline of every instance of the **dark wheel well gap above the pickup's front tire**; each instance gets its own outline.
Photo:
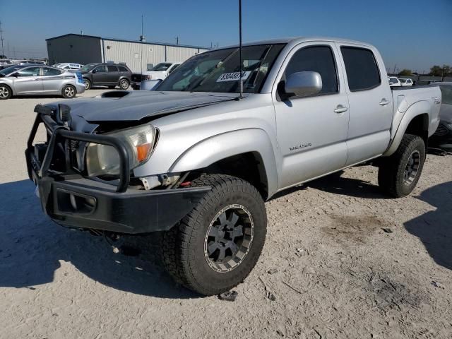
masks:
<path id="1" fill-rule="evenodd" d="M 203 172 L 208 174 L 229 174 L 244 179 L 256 187 L 262 198 L 268 197 L 268 181 L 266 169 L 261 155 L 256 152 L 247 152 L 214 162 Z"/>

